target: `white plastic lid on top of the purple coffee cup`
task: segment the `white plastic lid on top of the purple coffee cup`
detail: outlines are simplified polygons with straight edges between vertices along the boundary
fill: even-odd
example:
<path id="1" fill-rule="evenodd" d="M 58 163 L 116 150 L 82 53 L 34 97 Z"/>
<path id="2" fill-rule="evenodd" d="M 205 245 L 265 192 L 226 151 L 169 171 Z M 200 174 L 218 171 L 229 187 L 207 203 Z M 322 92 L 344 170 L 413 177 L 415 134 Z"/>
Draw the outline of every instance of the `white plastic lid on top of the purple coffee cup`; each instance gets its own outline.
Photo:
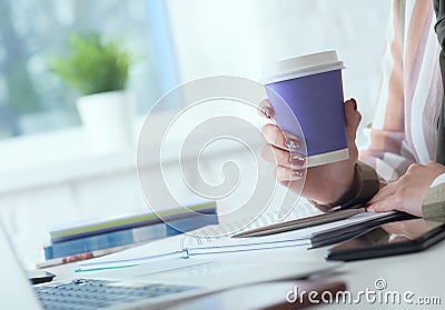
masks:
<path id="1" fill-rule="evenodd" d="M 263 66 L 263 82 L 274 83 L 345 69 L 336 51 L 325 51 L 278 60 Z"/>

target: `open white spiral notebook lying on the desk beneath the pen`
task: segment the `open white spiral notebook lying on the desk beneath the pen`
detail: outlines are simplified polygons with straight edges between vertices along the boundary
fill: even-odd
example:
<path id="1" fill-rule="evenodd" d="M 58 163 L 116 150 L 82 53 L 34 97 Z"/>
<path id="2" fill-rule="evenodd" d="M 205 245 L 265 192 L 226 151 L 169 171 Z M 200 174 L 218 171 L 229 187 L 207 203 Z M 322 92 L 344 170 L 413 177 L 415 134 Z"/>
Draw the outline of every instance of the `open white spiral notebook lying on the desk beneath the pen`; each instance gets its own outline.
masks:
<path id="1" fill-rule="evenodd" d="M 312 206 L 308 209 L 305 209 L 304 207 L 298 207 L 296 209 L 298 210 L 295 213 L 298 213 L 301 218 L 317 212 Z M 239 232 L 237 228 L 249 230 L 276 222 L 277 213 L 268 212 L 249 224 L 246 224 L 246 220 L 241 220 L 226 224 L 209 226 L 194 231 L 194 233 L 178 234 L 128 249 L 122 252 L 81 261 L 78 263 L 78 271 L 121 268 L 172 258 L 190 258 L 196 256 L 227 254 L 243 251 L 263 251 L 295 247 L 309 248 L 310 238 L 315 231 L 346 223 L 366 221 L 378 216 L 379 214 L 365 212 L 345 220 L 326 223 L 320 227 L 310 227 L 264 237 L 230 238 L 233 234 Z"/>

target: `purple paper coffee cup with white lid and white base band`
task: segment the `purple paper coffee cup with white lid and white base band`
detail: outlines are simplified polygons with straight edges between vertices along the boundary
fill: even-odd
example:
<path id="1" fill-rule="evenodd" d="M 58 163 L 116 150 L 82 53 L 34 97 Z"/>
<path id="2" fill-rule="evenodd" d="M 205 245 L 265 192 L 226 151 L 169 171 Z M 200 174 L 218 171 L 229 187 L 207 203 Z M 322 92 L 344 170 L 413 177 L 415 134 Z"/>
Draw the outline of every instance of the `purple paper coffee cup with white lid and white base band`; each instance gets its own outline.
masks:
<path id="1" fill-rule="evenodd" d="M 283 131 L 304 139 L 307 167 L 348 159 L 342 69 L 335 51 L 263 68 L 275 121 Z"/>

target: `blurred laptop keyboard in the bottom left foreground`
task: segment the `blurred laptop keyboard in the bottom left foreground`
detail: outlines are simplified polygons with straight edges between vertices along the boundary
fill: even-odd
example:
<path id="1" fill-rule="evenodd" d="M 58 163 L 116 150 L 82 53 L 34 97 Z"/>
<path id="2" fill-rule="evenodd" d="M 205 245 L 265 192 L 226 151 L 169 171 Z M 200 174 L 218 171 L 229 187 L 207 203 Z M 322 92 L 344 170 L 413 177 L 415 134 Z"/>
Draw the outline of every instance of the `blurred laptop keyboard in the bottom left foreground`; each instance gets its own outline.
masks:
<path id="1" fill-rule="evenodd" d="M 116 307 L 166 294 L 197 289 L 196 287 L 147 283 L 122 286 L 120 281 L 77 279 L 67 283 L 34 287 L 43 309 L 89 310 Z"/>

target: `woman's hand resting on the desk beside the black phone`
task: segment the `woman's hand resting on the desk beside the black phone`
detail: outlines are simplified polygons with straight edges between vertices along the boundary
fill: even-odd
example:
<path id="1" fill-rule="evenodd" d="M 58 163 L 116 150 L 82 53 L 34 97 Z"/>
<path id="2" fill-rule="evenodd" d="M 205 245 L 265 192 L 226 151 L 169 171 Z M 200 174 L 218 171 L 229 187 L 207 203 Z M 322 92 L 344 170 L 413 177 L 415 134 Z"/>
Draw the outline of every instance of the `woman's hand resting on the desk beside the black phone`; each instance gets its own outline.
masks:
<path id="1" fill-rule="evenodd" d="M 369 201 L 370 212 L 390 210 L 405 211 L 422 217 L 422 200 L 428 188 L 445 167 L 435 161 L 426 164 L 413 163 L 398 181 L 383 187 Z"/>

